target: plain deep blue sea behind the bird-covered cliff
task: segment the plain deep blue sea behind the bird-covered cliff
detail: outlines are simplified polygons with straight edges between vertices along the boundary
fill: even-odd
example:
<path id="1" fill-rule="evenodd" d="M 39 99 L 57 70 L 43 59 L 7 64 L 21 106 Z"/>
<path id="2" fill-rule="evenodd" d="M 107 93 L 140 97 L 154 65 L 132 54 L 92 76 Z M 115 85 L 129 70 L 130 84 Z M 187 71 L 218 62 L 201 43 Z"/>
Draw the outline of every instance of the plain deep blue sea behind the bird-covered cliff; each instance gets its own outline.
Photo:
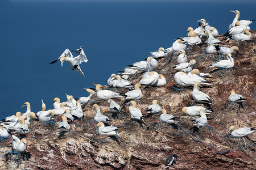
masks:
<path id="1" fill-rule="evenodd" d="M 66 100 L 88 96 L 82 87 L 106 84 L 112 73 L 140 61 L 160 46 L 168 48 L 204 18 L 225 33 L 234 14 L 256 19 L 254 1 L 7 1 L 0 2 L 0 118 L 31 103 L 42 110 L 41 99 L 52 108 L 54 97 Z M 255 29 L 255 23 L 251 24 Z M 85 77 L 68 70 L 69 64 L 49 65 L 66 48 L 83 46 L 89 61 L 82 63 Z"/>

